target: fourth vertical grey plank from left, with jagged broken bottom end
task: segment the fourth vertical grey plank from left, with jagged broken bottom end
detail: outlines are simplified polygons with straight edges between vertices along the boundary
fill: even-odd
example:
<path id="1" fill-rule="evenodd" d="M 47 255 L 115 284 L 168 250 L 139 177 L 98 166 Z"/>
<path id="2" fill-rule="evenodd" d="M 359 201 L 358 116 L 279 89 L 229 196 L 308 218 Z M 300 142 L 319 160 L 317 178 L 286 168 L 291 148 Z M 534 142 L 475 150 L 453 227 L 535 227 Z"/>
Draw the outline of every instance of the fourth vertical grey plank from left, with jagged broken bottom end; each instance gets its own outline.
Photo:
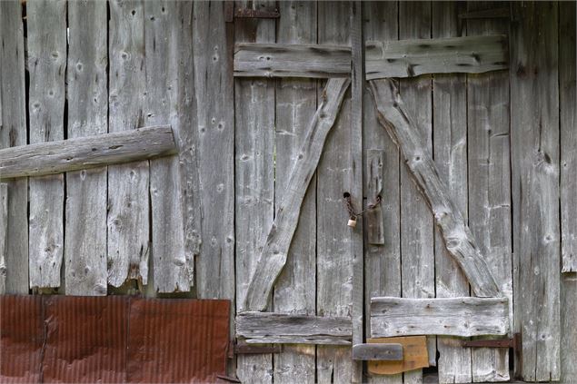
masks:
<path id="1" fill-rule="evenodd" d="M 144 124 L 144 4 L 109 5 L 108 132 L 116 133 Z M 114 287 L 126 279 L 148 283 L 149 172 L 148 161 L 108 167 L 108 283 Z"/>

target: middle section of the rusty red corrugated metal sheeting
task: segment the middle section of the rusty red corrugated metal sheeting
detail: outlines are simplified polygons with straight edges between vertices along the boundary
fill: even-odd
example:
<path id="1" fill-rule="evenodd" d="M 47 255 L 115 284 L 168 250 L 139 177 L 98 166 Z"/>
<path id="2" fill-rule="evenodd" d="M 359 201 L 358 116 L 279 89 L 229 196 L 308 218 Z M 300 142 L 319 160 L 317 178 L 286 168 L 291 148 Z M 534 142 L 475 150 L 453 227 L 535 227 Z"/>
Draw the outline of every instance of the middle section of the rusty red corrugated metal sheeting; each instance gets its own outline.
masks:
<path id="1" fill-rule="evenodd" d="M 45 382 L 122 383 L 129 298 L 45 299 Z"/>

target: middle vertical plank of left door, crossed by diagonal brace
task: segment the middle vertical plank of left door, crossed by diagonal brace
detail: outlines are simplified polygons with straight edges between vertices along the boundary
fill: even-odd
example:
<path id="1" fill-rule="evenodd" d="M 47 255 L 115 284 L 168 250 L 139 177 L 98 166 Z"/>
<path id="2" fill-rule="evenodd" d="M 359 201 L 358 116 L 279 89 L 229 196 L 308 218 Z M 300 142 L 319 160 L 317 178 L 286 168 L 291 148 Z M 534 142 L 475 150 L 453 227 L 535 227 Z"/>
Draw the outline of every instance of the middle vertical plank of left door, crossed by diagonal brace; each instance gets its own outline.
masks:
<path id="1" fill-rule="evenodd" d="M 277 43 L 316 43 L 316 3 L 281 2 Z M 293 162 L 316 112 L 316 80 L 279 79 L 276 84 L 274 202 L 282 202 Z M 309 184 L 283 272 L 274 285 L 274 311 L 315 314 L 316 180 Z M 274 355 L 274 382 L 313 383 L 315 347 L 287 345 Z"/>

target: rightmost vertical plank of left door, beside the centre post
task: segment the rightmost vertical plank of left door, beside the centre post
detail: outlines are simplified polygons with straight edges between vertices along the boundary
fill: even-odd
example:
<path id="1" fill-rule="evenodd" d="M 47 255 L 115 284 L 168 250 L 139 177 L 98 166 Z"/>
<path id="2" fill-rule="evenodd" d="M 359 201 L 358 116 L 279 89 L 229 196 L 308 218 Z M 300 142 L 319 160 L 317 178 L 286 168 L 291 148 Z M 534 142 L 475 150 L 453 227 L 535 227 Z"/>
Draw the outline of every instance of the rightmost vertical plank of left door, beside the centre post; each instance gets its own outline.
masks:
<path id="1" fill-rule="evenodd" d="M 348 2 L 318 3 L 318 44 L 350 45 L 351 8 Z M 319 100 L 323 97 L 322 88 Z M 348 214 L 343 192 L 351 192 L 353 158 L 351 148 L 351 96 L 347 94 L 334 127 L 324 144 L 317 167 L 317 286 L 318 316 L 351 316 L 353 300 L 353 229 L 346 225 Z M 362 165 L 359 163 L 359 167 Z M 359 202 L 360 196 L 352 196 Z M 360 206 L 357 205 L 357 210 Z M 358 231 L 358 230 L 357 230 Z M 351 382 L 351 350 L 317 347 L 317 380 Z"/>

